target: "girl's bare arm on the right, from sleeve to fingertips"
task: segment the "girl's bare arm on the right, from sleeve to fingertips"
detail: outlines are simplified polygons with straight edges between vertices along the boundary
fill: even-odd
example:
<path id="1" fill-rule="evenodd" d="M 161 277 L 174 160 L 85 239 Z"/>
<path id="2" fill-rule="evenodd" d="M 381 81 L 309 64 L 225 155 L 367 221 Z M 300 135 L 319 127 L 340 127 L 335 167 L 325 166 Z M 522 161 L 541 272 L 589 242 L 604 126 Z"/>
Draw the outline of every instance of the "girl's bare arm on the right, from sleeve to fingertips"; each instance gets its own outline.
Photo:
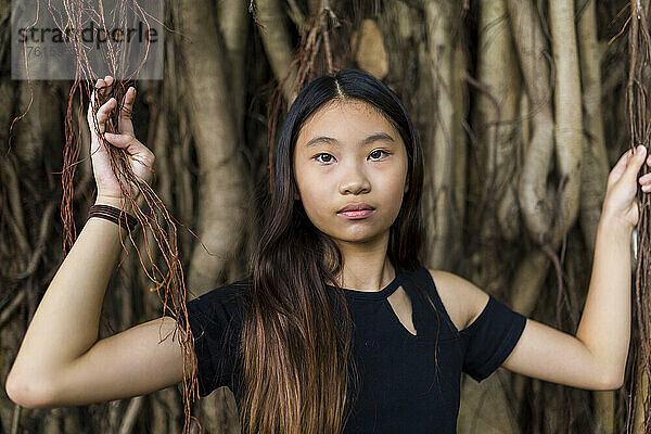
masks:
<path id="1" fill-rule="evenodd" d="M 646 149 L 638 149 L 640 153 L 626 152 L 608 178 L 590 286 L 576 335 L 527 318 L 505 368 L 580 388 L 622 386 L 630 340 L 630 242 L 639 219 L 635 196 L 646 157 Z M 647 164 L 651 166 L 651 157 Z M 648 184 L 649 176 L 639 182 Z"/>

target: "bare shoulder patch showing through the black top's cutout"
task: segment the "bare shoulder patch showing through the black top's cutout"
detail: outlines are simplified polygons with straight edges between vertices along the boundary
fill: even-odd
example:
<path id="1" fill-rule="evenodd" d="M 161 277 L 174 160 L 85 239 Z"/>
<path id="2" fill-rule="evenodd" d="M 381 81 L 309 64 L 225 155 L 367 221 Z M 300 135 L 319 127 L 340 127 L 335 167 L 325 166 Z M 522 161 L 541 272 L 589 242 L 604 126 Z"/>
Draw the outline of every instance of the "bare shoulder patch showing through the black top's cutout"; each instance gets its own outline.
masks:
<path id="1" fill-rule="evenodd" d="M 488 304 L 489 295 L 469 280 L 444 270 L 427 269 L 438 296 L 458 330 L 470 326 Z"/>

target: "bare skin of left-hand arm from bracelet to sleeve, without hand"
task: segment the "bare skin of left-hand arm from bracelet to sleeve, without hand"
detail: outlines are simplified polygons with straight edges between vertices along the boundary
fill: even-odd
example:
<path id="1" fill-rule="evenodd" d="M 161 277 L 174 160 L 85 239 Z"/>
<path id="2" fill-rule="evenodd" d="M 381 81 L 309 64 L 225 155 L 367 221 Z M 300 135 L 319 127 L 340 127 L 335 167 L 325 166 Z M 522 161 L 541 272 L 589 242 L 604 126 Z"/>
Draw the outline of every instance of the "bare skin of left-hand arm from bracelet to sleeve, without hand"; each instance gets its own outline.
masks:
<path id="1" fill-rule="evenodd" d="M 95 203 L 119 206 L 113 199 L 98 199 Z M 164 345 L 157 345 L 158 340 L 151 339 L 158 336 L 154 326 L 161 319 L 98 341 L 106 286 L 122 250 L 120 239 L 124 242 L 127 237 L 128 230 L 112 221 L 88 219 L 48 286 L 21 344 L 5 384 L 12 400 L 30 408 L 81 405 L 136 396 L 182 379 L 179 344 L 166 340 Z M 175 321 L 168 318 L 165 326 L 163 335 L 174 329 Z M 177 362 L 168 363 L 155 375 L 152 370 L 155 372 L 156 365 L 148 367 L 139 361 L 156 354 L 159 359 Z M 126 367 L 127 362 L 131 365 Z M 148 375 L 135 375 L 139 369 L 149 369 L 157 381 L 150 376 L 146 383 L 138 383 L 128 378 L 146 379 Z M 120 378 L 125 381 L 116 381 Z"/>

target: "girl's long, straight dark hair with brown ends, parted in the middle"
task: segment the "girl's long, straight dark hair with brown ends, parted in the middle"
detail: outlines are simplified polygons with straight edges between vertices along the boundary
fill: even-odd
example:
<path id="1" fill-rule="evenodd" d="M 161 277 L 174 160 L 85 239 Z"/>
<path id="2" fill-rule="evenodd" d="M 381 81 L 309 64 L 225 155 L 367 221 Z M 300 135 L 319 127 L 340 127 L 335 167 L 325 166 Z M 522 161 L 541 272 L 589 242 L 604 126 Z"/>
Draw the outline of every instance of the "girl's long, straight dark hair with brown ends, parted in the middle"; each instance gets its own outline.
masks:
<path id="1" fill-rule="evenodd" d="M 361 71 L 314 79 L 281 127 L 260 240 L 248 264 L 240 413 L 247 433 L 339 433 L 350 409 L 349 380 L 357 378 L 350 357 L 353 322 L 336 281 L 343 256 L 294 201 L 298 189 L 292 169 L 302 126 L 333 100 L 372 104 L 400 133 L 409 188 L 390 229 L 387 256 L 395 268 L 422 263 L 423 155 L 407 110 L 388 87 Z"/>

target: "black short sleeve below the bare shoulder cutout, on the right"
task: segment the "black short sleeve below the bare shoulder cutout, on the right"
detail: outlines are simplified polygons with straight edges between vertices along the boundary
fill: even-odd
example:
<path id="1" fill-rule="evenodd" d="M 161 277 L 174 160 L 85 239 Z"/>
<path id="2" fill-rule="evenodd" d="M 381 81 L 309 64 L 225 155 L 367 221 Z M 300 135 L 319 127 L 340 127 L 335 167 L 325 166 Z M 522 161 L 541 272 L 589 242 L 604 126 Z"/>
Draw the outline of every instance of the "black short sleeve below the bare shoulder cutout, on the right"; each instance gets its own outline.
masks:
<path id="1" fill-rule="evenodd" d="M 525 316 L 489 295 L 484 310 L 460 332 L 467 340 L 463 372 L 477 382 L 495 372 L 518 344 L 525 324 Z"/>

